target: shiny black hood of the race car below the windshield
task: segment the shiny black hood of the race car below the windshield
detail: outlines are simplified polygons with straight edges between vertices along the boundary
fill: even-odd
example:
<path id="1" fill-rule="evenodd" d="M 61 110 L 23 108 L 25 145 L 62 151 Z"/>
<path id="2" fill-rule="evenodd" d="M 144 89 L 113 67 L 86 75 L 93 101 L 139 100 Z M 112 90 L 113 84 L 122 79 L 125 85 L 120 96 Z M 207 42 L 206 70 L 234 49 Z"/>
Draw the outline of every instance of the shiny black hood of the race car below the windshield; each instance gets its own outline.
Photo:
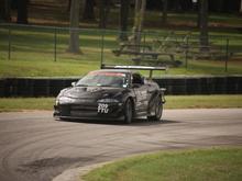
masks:
<path id="1" fill-rule="evenodd" d="M 124 88 L 108 87 L 73 87 L 64 90 L 62 97 L 76 99 L 102 99 L 113 98 L 118 93 L 122 93 Z"/>

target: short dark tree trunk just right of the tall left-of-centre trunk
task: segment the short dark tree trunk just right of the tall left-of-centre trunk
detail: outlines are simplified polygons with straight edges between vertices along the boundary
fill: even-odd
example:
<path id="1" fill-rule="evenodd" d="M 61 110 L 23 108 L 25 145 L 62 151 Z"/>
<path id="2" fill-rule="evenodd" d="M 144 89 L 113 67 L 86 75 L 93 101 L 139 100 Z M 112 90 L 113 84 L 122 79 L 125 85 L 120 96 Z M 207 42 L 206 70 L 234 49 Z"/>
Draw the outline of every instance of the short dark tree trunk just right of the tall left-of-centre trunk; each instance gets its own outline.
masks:
<path id="1" fill-rule="evenodd" d="M 94 0 L 85 0 L 84 7 L 84 21 L 95 21 L 95 1 Z"/>

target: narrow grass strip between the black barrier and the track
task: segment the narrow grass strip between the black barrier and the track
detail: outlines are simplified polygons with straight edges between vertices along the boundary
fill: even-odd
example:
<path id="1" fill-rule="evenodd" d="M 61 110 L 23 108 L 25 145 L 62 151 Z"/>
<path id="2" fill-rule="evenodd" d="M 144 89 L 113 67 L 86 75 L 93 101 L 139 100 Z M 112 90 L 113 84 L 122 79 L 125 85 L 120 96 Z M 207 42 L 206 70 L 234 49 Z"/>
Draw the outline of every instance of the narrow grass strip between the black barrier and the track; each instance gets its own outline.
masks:
<path id="1" fill-rule="evenodd" d="M 242 108 L 242 95 L 167 95 L 165 109 Z M 55 98 L 0 98 L 0 112 L 53 110 Z"/>

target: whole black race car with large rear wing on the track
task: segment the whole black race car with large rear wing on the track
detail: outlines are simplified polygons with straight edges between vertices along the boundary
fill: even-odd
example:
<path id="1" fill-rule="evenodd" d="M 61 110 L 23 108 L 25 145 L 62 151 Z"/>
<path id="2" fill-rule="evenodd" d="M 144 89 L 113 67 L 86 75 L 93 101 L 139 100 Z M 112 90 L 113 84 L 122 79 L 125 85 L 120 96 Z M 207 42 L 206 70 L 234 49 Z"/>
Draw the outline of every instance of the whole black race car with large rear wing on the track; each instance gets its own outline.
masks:
<path id="1" fill-rule="evenodd" d="M 54 117 L 122 120 L 125 123 L 131 123 L 140 116 L 161 120 L 165 103 L 164 89 L 160 89 L 151 79 L 130 70 L 158 68 L 109 68 L 91 71 L 73 83 L 73 87 L 62 90 L 54 105 Z"/>

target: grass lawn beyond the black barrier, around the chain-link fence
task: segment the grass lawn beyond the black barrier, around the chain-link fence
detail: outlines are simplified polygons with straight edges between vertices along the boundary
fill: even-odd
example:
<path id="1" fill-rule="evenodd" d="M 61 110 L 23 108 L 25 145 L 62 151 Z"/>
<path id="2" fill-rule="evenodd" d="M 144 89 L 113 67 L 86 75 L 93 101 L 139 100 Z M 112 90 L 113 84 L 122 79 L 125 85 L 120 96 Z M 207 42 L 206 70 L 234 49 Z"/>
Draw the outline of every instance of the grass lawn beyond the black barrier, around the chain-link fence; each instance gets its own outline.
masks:
<path id="1" fill-rule="evenodd" d="M 161 38 L 168 31 L 158 32 Z M 185 31 L 176 31 L 179 37 Z M 230 36 L 230 50 L 241 52 L 242 35 L 231 33 L 212 33 L 212 39 L 220 46 L 224 54 L 224 37 Z M 11 59 L 8 59 L 8 30 L 0 27 L 0 77 L 68 77 L 82 76 L 89 70 L 98 69 L 101 59 L 101 32 L 98 30 L 80 31 L 80 49 L 82 54 L 70 54 L 68 49 L 68 31 L 57 30 L 56 61 L 54 61 L 54 30 L 36 27 L 12 27 L 11 30 Z M 118 33 L 106 32 L 103 60 L 107 64 L 131 65 L 132 56 L 117 57 L 112 49 L 119 47 Z M 157 38 L 154 34 L 146 36 L 146 42 L 152 43 Z M 161 57 L 168 60 L 168 56 Z M 180 55 L 176 59 L 185 61 Z M 169 68 L 166 72 L 156 72 L 156 77 L 163 75 L 241 75 L 242 55 L 229 61 L 228 72 L 224 72 L 223 60 L 194 60 L 188 59 L 188 68 L 185 64 L 179 68 Z M 147 73 L 146 73 L 147 75 Z"/>

